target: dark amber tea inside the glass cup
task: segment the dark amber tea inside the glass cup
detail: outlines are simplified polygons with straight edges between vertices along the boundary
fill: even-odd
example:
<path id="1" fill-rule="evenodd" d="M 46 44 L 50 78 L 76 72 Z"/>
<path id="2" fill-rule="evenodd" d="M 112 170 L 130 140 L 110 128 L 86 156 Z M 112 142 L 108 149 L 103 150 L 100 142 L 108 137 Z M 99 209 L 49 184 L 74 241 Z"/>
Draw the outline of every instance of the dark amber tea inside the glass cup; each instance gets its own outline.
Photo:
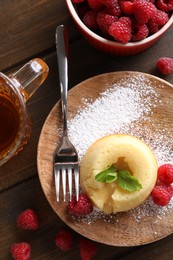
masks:
<path id="1" fill-rule="evenodd" d="M 10 97 L 0 95 L 0 157 L 14 142 L 20 125 L 19 112 Z"/>

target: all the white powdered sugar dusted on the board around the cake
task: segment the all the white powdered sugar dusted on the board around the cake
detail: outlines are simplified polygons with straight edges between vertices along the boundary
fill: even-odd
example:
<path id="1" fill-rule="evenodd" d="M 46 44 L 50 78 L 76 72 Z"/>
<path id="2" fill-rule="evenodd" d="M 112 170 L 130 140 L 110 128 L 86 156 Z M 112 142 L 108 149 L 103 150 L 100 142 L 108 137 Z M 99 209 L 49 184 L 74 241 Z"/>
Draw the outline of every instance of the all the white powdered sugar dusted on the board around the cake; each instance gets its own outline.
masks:
<path id="1" fill-rule="evenodd" d="M 171 133 L 165 128 L 164 122 L 163 128 L 157 129 L 158 122 L 152 117 L 161 105 L 154 83 L 143 75 L 127 76 L 107 87 L 95 101 L 84 99 L 85 108 L 79 108 L 75 117 L 68 122 L 69 138 L 78 151 L 79 159 L 82 159 L 89 146 L 97 139 L 109 134 L 124 133 L 147 143 L 159 165 L 173 163 Z M 169 208 L 173 208 L 173 200 L 168 206 L 159 207 L 149 198 L 144 204 L 129 211 L 129 214 L 133 215 L 136 221 L 147 216 L 157 215 L 161 218 Z M 92 223 L 98 218 L 115 221 L 115 217 L 118 221 L 120 214 L 107 216 L 94 209 L 93 213 L 82 221 Z"/>

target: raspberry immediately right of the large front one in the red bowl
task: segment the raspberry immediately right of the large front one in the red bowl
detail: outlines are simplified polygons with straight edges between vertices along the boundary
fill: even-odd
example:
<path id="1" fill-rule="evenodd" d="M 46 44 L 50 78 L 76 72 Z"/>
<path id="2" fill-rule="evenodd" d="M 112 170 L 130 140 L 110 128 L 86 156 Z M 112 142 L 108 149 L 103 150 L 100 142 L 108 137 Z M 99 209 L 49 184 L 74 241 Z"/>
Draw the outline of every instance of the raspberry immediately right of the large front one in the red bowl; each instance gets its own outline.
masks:
<path id="1" fill-rule="evenodd" d="M 149 29 L 146 24 L 136 24 L 133 28 L 132 41 L 141 41 L 145 39 L 149 34 Z"/>

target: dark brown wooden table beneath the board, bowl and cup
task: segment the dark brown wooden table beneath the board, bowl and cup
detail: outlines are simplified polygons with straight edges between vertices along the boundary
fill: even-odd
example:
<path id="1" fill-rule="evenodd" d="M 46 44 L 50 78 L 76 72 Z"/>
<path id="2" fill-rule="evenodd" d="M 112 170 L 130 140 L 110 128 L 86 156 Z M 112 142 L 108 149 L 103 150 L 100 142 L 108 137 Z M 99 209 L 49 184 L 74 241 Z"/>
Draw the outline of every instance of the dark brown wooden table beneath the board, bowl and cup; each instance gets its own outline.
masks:
<path id="1" fill-rule="evenodd" d="M 43 58 L 50 73 L 46 82 L 29 100 L 32 118 L 30 140 L 20 154 L 0 168 L 0 259 L 11 259 L 9 248 L 25 241 L 32 247 L 31 259 L 80 259 L 78 247 L 67 253 L 59 250 L 54 236 L 65 224 L 49 206 L 38 179 L 37 144 L 43 123 L 60 98 L 55 53 L 55 29 L 66 24 L 70 33 L 69 86 L 97 74 L 111 71 L 141 71 L 164 78 L 173 84 L 173 74 L 163 77 L 155 64 L 159 57 L 173 57 L 173 27 L 153 47 L 132 57 L 100 53 L 88 45 L 77 31 L 64 0 L 1 1 L 0 70 L 9 73 L 33 57 Z M 39 215 L 36 232 L 21 231 L 16 218 L 27 208 Z M 72 231 L 76 239 L 80 237 Z M 173 235 L 139 247 L 111 247 L 99 244 L 95 259 L 172 259 Z"/>

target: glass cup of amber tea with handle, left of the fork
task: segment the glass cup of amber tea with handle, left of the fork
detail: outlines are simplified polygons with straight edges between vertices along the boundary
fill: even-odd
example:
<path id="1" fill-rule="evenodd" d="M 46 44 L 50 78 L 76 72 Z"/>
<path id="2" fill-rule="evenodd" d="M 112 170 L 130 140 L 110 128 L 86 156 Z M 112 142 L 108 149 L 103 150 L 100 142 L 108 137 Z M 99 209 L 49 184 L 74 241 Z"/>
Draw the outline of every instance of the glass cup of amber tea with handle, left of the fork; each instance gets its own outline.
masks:
<path id="1" fill-rule="evenodd" d="M 44 82 L 48 72 L 47 64 L 39 58 L 29 61 L 10 76 L 0 72 L 0 166 L 27 143 L 31 123 L 26 102 Z"/>

